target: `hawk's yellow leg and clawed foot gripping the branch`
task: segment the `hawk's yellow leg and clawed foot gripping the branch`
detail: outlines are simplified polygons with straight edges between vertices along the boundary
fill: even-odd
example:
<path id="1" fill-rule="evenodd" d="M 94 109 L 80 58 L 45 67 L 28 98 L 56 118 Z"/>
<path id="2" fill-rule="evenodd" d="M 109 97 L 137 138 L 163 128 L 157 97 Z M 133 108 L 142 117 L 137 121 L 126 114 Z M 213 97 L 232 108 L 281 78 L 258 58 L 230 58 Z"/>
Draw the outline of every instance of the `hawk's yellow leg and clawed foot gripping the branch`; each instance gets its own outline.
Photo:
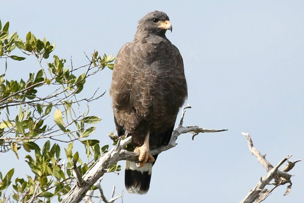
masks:
<path id="1" fill-rule="evenodd" d="M 139 164 L 136 163 L 137 166 L 143 167 L 145 163 L 149 160 L 149 163 L 154 162 L 154 157 L 150 154 L 150 148 L 149 148 L 149 136 L 150 131 L 148 131 L 145 141 L 143 142 L 143 145 L 140 147 L 135 147 L 134 152 L 140 152 L 138 160 L 140 161 Z"/>

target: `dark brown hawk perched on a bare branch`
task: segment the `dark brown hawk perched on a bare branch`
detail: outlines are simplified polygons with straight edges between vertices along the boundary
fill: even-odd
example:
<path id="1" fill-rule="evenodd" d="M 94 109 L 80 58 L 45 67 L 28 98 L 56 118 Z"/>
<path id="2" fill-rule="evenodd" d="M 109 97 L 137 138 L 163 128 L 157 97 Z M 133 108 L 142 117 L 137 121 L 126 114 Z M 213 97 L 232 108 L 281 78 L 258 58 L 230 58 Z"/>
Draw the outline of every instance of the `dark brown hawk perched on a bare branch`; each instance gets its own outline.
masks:
<path id="1" fill-rule="evenodd" d="M 187 98 L 184 64 L 178 48 L 165 36 L 169 17 L 153 11 L 140 21 L 134 40 L 117 54 L 110 95 L 117 133 L 132 136 L 138 163 L 126 161 L 129 193 L 145 194 L 157 155 L 149 150 L 168 145 L 180 107 Z"/>

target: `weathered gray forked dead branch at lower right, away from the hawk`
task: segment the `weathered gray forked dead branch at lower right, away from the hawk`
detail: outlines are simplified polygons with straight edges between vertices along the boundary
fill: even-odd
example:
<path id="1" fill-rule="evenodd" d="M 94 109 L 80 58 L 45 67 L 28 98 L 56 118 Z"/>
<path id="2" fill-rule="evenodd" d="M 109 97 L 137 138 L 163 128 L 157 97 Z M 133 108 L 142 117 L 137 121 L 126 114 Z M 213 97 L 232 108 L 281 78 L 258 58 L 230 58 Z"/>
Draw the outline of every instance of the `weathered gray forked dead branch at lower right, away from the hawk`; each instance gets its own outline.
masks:
<path id="1" fill-rule="evenodd" d="M 266 155 L 261 155 L 261 153 L 256 148 L 254 148 L 252 139 L 249 136 L 249 134 L 242 132 L 242 135 L 244 135 L 247 138 L 250 153 L 255 157 L 257 157 L 257 161 L 261 163 L 261 165 L 267 170 L 268 173 L 263 178 L 262 177 L 260 178 L 260 181 L 257 183 L 257 185 L 252 190 L 249 191 L 247 196 L 242 201 L 240 201 L 240 203 L 251 203 L 254 201 L 256 203 L 259 203 L 261 201 L 264 201 L 275 188 L 286 183 L 289 183 L 289 185 L 284 195 L 289 194 L 292 186 L 292 182 L 290 180 L 292 175 L 286 172 L 291 170 L 295 166 L 295 163 L 302 160 L 297 160 L 294 162 L 288 161 L 285 167 L 283 167 L 281 170 L 278 170 L 278 168 L 285 161 L 287 161 L 292 155 L 288 155 L 286 158 L 280 161 L 275 167 L 273 167 L 271 163 L 269 163 L 266 160 L 265 158 Z M 274 183 L 271 183 L 272 179 L 275 180 Z M 275 185 L 275 186 L 270 190 L 268 190 L 268 189 L 264 189 L 266 185 Z"/>

